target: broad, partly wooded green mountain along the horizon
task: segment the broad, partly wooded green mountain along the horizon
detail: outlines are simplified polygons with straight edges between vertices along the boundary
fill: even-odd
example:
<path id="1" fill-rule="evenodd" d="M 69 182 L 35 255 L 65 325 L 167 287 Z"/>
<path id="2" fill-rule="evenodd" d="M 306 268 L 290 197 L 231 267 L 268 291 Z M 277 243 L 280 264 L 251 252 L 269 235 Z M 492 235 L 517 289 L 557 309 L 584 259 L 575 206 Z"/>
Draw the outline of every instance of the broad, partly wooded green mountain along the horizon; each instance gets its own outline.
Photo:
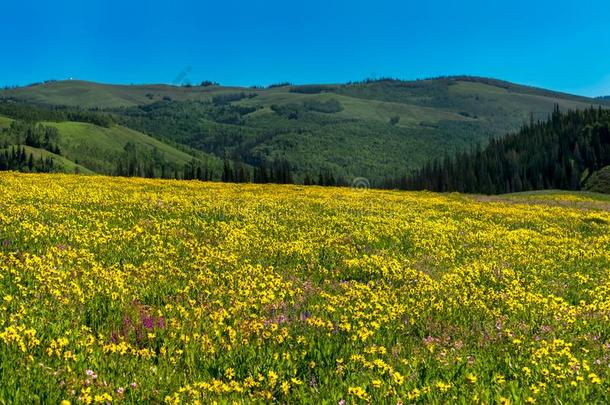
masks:
<path id="1" fill-rule="evenodd" d="M 556 104 L 561 110 L 610 106 L 602 99 L 467 76 L 268 88 L 56 81 L 6 89 L 0 99 L 96 109 L 110 114 L 121 133 L 131 128 L 189 158 L 209 157 L 216 167 L 225 158 L 249 168 L 281 160 L 298 181 L 330 172 L 374 184 L 517 131 L 530 117 L 546 118 Z M 73 124 L 58 128 L 68 143 L 74 133 L 82 135 L 79 142 L 101 136 L 62 126 Z M 81 151 L 79 163 L 87 161 Z"/>

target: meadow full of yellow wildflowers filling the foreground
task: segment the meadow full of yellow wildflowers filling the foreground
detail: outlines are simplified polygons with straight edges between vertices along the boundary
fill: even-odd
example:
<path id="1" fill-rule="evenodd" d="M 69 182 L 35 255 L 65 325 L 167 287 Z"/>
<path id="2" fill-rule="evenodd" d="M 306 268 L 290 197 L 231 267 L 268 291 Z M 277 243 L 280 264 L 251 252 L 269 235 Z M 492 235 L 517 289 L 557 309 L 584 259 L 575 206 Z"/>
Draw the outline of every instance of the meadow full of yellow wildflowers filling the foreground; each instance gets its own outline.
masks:
<path id="1" fill-rule="evenodd" d="M 2 173 L 0 403 L 607 403 L 609 209 Z"/>

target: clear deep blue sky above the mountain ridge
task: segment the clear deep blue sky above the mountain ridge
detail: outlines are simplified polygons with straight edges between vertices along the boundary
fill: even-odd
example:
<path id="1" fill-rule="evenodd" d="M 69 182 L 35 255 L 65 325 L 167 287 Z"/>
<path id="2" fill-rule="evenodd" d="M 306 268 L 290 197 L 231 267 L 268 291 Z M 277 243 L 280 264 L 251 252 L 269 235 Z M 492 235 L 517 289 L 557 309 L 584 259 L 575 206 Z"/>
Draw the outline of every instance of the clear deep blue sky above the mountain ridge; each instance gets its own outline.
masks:
<path id="1" fill-rule="evenodd" d="M 608 0 L 16 0 L 0 12 L 0 85 L 469 74 L 602 95 L 609 22 Z"/>

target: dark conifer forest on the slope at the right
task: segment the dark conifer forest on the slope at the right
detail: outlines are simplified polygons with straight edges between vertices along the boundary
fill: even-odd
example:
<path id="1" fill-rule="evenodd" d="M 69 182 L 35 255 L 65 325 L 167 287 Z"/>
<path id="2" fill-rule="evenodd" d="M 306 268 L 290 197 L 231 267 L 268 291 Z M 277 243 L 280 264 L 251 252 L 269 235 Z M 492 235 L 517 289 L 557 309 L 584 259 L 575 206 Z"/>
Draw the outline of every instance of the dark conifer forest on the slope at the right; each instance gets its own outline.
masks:
<path id="1" fill-rule="evenodd" d="M 503 194 L 531 190 L 580 190 L 589 176 L 610 165 L 610 111 L 562 113 L 485 148 L 435 159 L 414 174 L 388 181 L 406 190 Z"/>

